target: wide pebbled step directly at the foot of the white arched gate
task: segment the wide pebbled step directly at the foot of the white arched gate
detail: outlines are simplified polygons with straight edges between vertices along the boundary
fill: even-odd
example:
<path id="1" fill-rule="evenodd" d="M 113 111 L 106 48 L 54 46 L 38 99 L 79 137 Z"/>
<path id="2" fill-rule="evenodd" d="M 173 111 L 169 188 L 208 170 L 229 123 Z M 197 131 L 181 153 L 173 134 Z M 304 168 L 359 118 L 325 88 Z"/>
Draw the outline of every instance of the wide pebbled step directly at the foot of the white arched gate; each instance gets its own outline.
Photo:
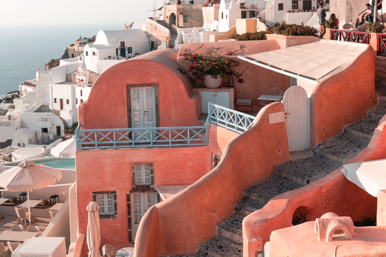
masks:
<path id="1" fill-rule="evenodd" d="M 288 161 L 276 166 L 274 172 L 278 177 L 306 186 L 330 174 L 339 167 L 339 164 L 328 159 L 312 156 L 300 160 Z"/>

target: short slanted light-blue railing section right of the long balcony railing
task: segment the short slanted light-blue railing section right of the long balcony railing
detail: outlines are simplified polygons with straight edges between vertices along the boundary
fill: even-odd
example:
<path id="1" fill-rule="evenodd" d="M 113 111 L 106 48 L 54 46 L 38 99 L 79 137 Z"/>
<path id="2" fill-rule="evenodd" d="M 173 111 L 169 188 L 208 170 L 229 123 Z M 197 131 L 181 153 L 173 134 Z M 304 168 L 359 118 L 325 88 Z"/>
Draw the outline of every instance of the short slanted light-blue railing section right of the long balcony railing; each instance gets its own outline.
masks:
<path id="1" fill-rule="evenodd" d="M 208 118 L 205 124 L 212 122 L 241 134 L 250 129 L 255 118 L 255 116 L 209 102 Z"/>

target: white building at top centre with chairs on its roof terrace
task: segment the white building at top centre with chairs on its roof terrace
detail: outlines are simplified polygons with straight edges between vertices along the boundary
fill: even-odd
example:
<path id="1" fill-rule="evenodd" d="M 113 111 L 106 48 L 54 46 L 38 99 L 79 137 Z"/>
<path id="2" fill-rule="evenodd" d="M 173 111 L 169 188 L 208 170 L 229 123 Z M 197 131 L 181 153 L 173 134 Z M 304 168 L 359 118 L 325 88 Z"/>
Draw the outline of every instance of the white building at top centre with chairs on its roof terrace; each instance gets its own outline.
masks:
<path id="1" fill-rule="evenodd" d="M 236 25 L 236 19 L 257 17 L 265 8 L 264 1 L 221 0 L 219 9 L 219 32 L 226 32 Z"/>

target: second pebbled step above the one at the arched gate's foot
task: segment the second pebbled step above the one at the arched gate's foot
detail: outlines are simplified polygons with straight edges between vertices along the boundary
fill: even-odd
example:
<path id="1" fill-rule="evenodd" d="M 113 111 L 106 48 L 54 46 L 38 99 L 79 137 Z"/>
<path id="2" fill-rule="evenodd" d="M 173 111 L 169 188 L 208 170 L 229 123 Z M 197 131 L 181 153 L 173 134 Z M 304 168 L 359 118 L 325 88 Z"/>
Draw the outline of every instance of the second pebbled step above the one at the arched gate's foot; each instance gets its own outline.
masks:
<path id="1" fill-rule="evenodd" d="M 352 123 L 344 127 L 344 132 L 350 134 L 356 138 L 364 139 L 367 141 L 371 140 L 374 130 L 378 126 L 379 120 L 372 118 L 365 118 Z"/>

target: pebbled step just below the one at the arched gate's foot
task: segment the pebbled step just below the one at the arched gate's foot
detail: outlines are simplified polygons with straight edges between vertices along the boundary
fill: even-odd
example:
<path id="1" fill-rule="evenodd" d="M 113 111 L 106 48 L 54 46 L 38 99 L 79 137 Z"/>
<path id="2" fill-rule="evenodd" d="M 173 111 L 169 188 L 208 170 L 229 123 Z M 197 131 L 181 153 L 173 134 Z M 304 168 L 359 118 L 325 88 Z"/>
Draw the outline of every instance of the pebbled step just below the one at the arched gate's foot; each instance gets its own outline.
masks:
<path id="1" fill-rule="evenodd" d="M 295 184 L 291 181 L 287 181 L 278 176 L 272 176 L 245 190 L 244 195 L 249 199 L 258 200 L 262 203 L 267 203 L 271 198 L 279 194 L 300 187 L 300 185 Z"/>

